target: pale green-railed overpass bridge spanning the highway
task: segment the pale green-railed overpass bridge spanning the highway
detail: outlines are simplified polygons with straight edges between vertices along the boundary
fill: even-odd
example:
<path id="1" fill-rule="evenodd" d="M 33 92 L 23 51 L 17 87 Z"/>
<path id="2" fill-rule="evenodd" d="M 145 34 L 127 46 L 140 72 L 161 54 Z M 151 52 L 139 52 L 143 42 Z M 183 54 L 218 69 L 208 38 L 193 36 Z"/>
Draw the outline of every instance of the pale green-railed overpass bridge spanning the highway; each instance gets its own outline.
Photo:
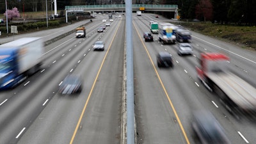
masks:
<path id="1" fill-rule="evenodd" d="M 178 5 L 168 4 L 132 4 L 132 11 L 143 8 L 146 12 L 176 12 Z M 67 15 L 70 12 L 125 12 L 125 4 L 102 4 L 102 5 L 80 5 L 80 6 L 65 6 L 66 22 Z"/>

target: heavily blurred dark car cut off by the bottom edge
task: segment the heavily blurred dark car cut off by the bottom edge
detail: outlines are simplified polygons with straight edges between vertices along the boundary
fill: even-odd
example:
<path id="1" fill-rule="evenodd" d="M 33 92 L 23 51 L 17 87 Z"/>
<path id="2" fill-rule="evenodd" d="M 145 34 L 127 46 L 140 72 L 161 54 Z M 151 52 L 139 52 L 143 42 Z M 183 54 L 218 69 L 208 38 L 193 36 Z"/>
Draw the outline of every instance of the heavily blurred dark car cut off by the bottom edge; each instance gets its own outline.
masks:
<path id="1" fill-rule="evenodd" d="M 202 144 L 231 144 L 223 127 L 210 111 L 194 111 L 192 127 Z"/>

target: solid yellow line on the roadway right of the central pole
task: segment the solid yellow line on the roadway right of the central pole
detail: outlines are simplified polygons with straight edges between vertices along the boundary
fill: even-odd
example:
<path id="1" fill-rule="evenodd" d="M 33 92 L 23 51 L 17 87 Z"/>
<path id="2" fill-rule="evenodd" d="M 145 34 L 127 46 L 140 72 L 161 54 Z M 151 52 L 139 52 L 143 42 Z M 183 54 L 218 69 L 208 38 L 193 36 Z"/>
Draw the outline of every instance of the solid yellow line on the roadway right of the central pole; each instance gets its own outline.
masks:
<path id="1" fill-rule="evenodd" d="M 151 56 L 150 56 L 148 50 L 147 50 L 147 47 L 146 47 L 146 45 L 144 44 L 143 40 L 141 39 L 141 36 L 140 36 L 140 34 L 139 34 L 139 32 L 138 32 L 138 29 L 136 28 L 136 26 L 135 26 L 134 23 L 133 23 L 133 25 L 134 25 L 134 28 L 135 28 L 136 31 L 137 31 L 138 36 L 140 37 L 140 40 L 141 40 L 141 42 L 142 42 L 142 44 L 143 44 L 143 47 L 144 47 L 145 51 L 146 51 L 147 54 L 148 54 L 148 58 L 149 58 L 149 60 L 150 60 L 150 62 L 151 62 L 151 64 L 152 64 L 152 66 L 153 66 L 153 68 L 154 68 L 154 70 L 155 70 L 155 72 L 156 72 L 156 75 L 157 75 L 157 77 L 158 77 L 158 79 L 159 79 L 159 81 L 160 81 L 160 83 L 161 83 L 161 86 L 162 86 L 162 88 L 163 88 L 163 90 L 164 90 L 164 93 L 165 93 L 167 99 L 169 100 L 170 106 L 172 107 L 173 113 L 174 113 L 175 117 L 177 118 L 177 122 L 179 123 L 180 129 L 181 129 L 181 131 L 182 131 L 182 133 L 183 133 L 183 135 L 184 135 L 184 137 L 185 137 L 185 139 L 186 139 L 186 142 L 187 142 L 188 144 L 190 144 L 190 143 L 189 143 L 189 140 L 188 140 L 188 136 L 187 136 L 187 134 L 186 134 L 186 132 L 185 132 L 185 130 L 184 130 L 184 127 L 183 127 L 183 125 L 182 125 L 181 122 L 180 122 L 180 118 L 179 118 L 179 116 L 178 116 L 178 114 L 177 114 L 177 111 L 175 110 L 175 108 L 174 108 L 174 106 L 173 106 L 173 104 L 172 104 L 172 100 L 170 99 L 170 97 L 169 97 L 169 95 L 168 95 L 168 93 L 167 93 L 167 91 L 166 91 L 166 89 L 165 89 L 165 87 L 164 87 L 164 84 L 163 84 L 163 82 L 162 82 L 162 80 L 161 80 L 161 77 L 159 76 L 159 74 L 158 74 L 158 72 L 157 72 L 157 70 L 156 70 L 156 67 L 155 67 L 155 65 L 154 65 L 154 62 L 152 61 L 152 58 L 151 58 Z"/>

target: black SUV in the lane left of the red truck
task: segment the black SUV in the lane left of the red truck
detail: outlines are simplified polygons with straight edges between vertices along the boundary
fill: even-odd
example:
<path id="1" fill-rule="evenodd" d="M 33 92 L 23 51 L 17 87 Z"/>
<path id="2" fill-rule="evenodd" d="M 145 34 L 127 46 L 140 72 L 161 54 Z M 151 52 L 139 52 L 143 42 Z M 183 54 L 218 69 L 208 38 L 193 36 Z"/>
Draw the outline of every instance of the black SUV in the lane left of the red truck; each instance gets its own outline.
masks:
<path id="1" fill-rule="evenodd" d="M 171 54 L 168 52 L 159 52 L 157 54 L 157 67 L 173 67 Z"/>

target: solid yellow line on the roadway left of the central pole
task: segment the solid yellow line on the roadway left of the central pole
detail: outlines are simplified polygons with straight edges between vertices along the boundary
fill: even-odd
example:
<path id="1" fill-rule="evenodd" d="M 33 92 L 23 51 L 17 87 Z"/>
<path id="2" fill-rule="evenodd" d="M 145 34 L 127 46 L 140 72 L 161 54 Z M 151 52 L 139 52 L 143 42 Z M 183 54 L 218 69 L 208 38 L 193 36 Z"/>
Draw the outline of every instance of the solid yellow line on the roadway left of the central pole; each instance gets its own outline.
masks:
<path id="1" fill-rule="evenodd" d="M 88 104 L 88 102 L 89 102 L 89 100 L 90 100 L 90 97 L 92 96 L 92 92 L 93 92 L 93 90 L 94 90 L 94 86 L 95 86 L 96 81 L 97 81 L 97 79 L 98 79 L 98 77 L 99 77 L 99 74 L 100 74 L 100 71 L 101 71 L 101 69 L 102 69 L 102 66 L 103 66 L 103 64 L 104 64 L 104 62 L 105 62 L 105 60 L 106 60 L 106 57 L 107 57 L 108 52 L 109 52 L 109 49 L 110 49 L 110 47 L 111 47 L 111 45 L 112 45 L 112 43 L 113 43 L 113 41 L 114 41 L 114 39 L 115 39 L 115 37 L 116 37 L 116 33 L 117 33 L 117 31 L 118 31 L 118 29 L 119 29 L 119 27 L 120 27 L 121 22 L 122 22 L 122 20 L 120 20 L 120 22 L 119 22 L 119 24 L 118 24 L 118 28 L 117 28 L 116 31 L 115 31 L 115 35 L 113 36 L 113 38 L 112 38 L 112 40 L 111 40 L 111 43 L 109 44 L 108 51 L 106 52 L 106 54 L 105 54 L 105 56 L 104 56 L 104 58 L 103 58 L 103 60 L 102 60 L 102 63 L 101 63 L 101 65 L 100 65 L 100 68 L 99 68 L 99 71 L 98 71 L 98 73 L 97 73 L 97 76 L 95 77 L 95 80 L 94 80 L 94 82 L 93 82 L 93 84 L 92 84 L 92 88 L 91 88 L 91 90 L 90 90 L 90 93 L 89 93 L 89 95 L 88 95 L 88 98 L 87 98 L 87 100 L 86 100 L 86 102 L 85 102 L 85 104 L 84 104 L 83 111 L 82 111 L 82 113 L 81 113 L 81 115 L 80 115 L 80 117 L 79 117 L 79 120 L 78 120 L 78 122 L 77 122 L 76 129 L 75 129 L 75 131 L 74 131 L 74 133 L 73 133 L 73 136 L 72 136 L 72 138 L 71 138 L 71 140 L 70 140 L 70 144 L 73 143 L 73 141 L 74 141 L 74 139 L 75 139 L 75 137 L 76 137 L 77 129 L 79 128 L 79 125 L 81 124 L 81 121 L 82 121 L 82 118 L 83 118 L 83 115 L 84 115 L 84 111 L 86 110 L 87 104 Z"/>

